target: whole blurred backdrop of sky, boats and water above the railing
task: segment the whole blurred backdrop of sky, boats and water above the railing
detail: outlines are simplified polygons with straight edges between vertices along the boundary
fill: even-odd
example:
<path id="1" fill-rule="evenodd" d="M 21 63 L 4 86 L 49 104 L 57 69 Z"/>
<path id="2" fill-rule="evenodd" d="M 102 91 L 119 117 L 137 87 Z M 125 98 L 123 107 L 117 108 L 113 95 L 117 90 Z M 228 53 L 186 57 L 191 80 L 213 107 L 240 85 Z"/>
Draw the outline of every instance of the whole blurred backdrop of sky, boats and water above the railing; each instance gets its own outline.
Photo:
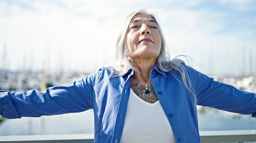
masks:
<path id="1" fill-rule="evenodd" d="M 256 93 L 254 0 L 0 0 L 0 90 L 70 85 L 112 65 L 121 22 L 140 8 L 158 15 L 171 58 L 188 55 L 204 74 Z M 250 115 L 201 106 L 198 113 L 200 130 L 256 129 Z M 0 130 L 93 133 L 93 111 L 5 119 Z"/>

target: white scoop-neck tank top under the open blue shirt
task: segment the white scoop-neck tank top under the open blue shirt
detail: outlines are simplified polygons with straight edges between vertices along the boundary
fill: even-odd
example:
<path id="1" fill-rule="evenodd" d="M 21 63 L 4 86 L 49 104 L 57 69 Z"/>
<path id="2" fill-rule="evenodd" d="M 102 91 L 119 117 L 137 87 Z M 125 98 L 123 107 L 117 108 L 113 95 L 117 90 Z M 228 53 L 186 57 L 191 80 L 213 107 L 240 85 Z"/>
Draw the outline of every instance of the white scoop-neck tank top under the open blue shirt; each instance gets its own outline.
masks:
<path id="1" fill-rule="evenodd" d="M 130 90 L 120 143 L 176 143 L 159 100 L 148 103 Z"/>

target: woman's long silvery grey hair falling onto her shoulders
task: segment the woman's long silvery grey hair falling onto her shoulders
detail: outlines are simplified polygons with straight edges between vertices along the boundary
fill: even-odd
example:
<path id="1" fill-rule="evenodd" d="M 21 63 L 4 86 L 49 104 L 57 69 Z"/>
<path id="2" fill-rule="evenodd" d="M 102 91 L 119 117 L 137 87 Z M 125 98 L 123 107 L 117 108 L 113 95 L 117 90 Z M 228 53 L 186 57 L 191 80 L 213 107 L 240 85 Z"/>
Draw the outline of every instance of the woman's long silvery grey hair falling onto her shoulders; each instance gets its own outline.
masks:
<path id="1" fill-rule="evenodd" d="M 163 72 L 170 72 L 172 69 L 175 69 L 175 72 L 179 72 L 181 75 L 181 79 L 177 79 L 177 80 L 178 81 L 182 80 L 180 82 L 182 82 L 186 86 L 186 88 L 195 96 L 193 87 L 191 85 L 191 80 L 187 73 L 186 67 L 184 66 L 185 62 L 182 61 L 180 58 L 178 58 L 180 56 L 183 56 L 187 59 L 188 56 L 180 55 L 180 56 L 176 56 L 175 58 L 173 58 L 171 60 L 169 51 L 167 48 L 167 44 L 166 44 L 166 41 L 164 38 L 162 25 L 160 24 L 159 19 L 155 15 L 155 13 L 149 12 L 146 9 L 139 9 L 138 11 L 131 13 L 124 19 L 123 24 L 120 27 L 118 37 L 117 37 L 116 60 L 115 60 L 116 65 L 113 66 L 113 68 L 115 69 L 115 74 L 113 74 L 112 77 L 124 75 L 124 74 L 126 74 L 128 69 L 133 69 L 136 72 L 139 72 L 138 69 L 136 69 L 132 65 L 132 59 L 128 56 L 128 51 L 126 48 L 126 35 L 128 32 L 128 26 L 129 26 L 132 18 L 137 14 L 150 15 L 157 22 L 157 25 L 159 27 L 159 33 L 161 36 L 161 42 L 162 42 L 161 45 L 162 46 L 161 46 L 161 51 L 156 60 L 158 69 L 162 70 Z M 196 99 L 196 97 L 195 97 L 195 99 Z"/>

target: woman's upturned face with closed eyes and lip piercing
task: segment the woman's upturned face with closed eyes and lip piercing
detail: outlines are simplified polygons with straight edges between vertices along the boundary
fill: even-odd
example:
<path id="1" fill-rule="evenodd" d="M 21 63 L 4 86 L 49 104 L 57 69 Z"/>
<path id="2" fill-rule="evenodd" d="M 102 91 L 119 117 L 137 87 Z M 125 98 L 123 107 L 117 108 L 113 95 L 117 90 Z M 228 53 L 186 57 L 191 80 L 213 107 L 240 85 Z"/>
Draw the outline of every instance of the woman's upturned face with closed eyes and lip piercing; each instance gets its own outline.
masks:
<path id="1" fill-rule="evenodd" d="M 126 35 L 129 57 L 156 59 L 161 50 L 159 27 L 153 17 L 146 14 L 135 15 Z"/>

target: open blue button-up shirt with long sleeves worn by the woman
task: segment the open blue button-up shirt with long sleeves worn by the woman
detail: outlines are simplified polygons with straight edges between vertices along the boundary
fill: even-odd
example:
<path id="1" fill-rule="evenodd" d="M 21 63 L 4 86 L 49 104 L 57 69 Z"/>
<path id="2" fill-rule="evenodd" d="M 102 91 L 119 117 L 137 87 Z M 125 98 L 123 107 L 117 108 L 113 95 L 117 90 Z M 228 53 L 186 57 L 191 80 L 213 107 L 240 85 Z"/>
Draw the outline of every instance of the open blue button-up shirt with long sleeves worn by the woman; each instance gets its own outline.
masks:
<path id="1" fill-rule="evenodd" d="M 154 91 L 173 129 L 177 142 L 200 143 L 196 104 L 225 111 L 256 113 L 256 94 L 241 91 L 185 66 L 191 89 L 184 86 L 175 70 L 150 71 Z M 70 86 L 25 92 L 0 92 L 0 115 L 4 118 L 40 117 L 94 109 L 94 142 L 119 143 L 128 104 L 131 76 L 110 77 L 113 69 L 104 67 Z M 141 114 L 143 115 L 143 114 Z M 154 115 L 152 115 L 154 117 Z"/>

